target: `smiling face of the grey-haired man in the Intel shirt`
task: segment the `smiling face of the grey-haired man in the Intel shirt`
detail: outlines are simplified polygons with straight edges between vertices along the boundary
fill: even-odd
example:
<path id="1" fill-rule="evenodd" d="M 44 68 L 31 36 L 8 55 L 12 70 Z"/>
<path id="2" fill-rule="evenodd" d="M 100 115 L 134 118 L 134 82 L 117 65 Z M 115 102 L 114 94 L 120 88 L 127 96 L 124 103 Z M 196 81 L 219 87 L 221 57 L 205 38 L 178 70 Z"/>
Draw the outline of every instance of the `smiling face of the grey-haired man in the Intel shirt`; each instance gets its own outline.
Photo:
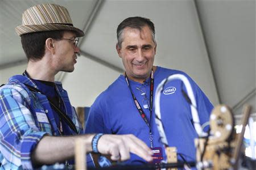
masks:
<path id="1" fill-rule="evenodd" d="M 136 82 L 143 82 L 150 76 L 156 53 L 150 28 L 144 26 L 139 31 L 126 27 L 123 29 L 122 40 L 122 46 L 117 45 L 117 52 L 122 58 L 126 74 Z"/>

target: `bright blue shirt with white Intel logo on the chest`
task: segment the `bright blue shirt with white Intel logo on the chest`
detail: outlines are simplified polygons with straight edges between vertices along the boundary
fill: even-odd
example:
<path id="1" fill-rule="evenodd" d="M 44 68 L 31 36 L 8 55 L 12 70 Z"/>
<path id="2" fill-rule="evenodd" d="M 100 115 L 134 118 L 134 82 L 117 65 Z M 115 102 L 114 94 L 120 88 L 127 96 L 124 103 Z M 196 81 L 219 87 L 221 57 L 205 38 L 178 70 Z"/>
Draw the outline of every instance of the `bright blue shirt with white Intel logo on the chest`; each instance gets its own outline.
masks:
<path id="1" fill-rule="evenodd" d="M 178 70 L 165 69 L 157 67 L 154 73 L 154 97 L 156 87 L 164 78 L 172 74 L 183 74 L 191 83 L 197 102 L 197 111 L 199 112 L 200 124 L 209 121 L 209 115 L 213 105 L 207 96 L 200 90 L 197 84 L 185 73 Z M 129 80 L 133 94 L 143 107 L 147 105 L 150 97 L 150 78 L 144 83 Z M 181 93 L 181 89 L 185 90 L 185 86 L 181 80 L 173 80 L 167 83 L 164 89 L 171 87 L 173 93 L 161 94 L 160 109 L 162 122 L 165 129 L 169 146 L 175 146 L 177 153 L 182 154 L 186 161 L 195 161 L 196 148 L 194 139 L 197 137 L 195 128 L 193 128 L 193 120 L 190 105 Z M 174 88 L 172 88 L 174 87 Z M 147 102 L 143 92 L 146 92 Z M 149 103 L 148 103 L 149 104 Z M 150 111 L 143 107 L 147 119 L 150 119 Z M 155 124 L 155 113 L 153 106 L 153 114 L 151 120 L 153 146 L 162 147 L 159 132 Z M 102 92 L 94 101 L 90 108 L 88 121 L 86 122 L 85 133 L 106 133 L 106 134 L 134 134 L 136 137 L 144 141 L 150 147 L 149 128 L 140 116 L 137 107 L 134 104 L 133 97 L 129 87 L 127 86 L 125 76 L 120 75 L 107 90 Z M 163 156 L 166 154 L 163 148 Z M 182 160 L 178 155 L 178 159 Z M 146 161 L 139 158 L 135 154 L 131 154 L 131 158 L 126 164 L 141 164 Z"/>

